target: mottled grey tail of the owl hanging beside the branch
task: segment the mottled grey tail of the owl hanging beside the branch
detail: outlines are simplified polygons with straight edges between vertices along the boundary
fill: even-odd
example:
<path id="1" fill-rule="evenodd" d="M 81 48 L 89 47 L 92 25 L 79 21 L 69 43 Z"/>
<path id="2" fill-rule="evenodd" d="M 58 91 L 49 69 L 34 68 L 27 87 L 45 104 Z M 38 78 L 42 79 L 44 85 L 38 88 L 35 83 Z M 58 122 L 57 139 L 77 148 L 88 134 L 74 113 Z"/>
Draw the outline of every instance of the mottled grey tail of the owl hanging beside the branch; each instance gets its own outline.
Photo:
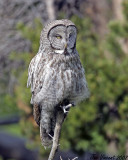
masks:
<path id="1" fill-rule="evenodd" d="M 51 112 L 41 111 L 40 138 L 44 147 L 51 147 L 54 136 L 55 116 Z"/>

